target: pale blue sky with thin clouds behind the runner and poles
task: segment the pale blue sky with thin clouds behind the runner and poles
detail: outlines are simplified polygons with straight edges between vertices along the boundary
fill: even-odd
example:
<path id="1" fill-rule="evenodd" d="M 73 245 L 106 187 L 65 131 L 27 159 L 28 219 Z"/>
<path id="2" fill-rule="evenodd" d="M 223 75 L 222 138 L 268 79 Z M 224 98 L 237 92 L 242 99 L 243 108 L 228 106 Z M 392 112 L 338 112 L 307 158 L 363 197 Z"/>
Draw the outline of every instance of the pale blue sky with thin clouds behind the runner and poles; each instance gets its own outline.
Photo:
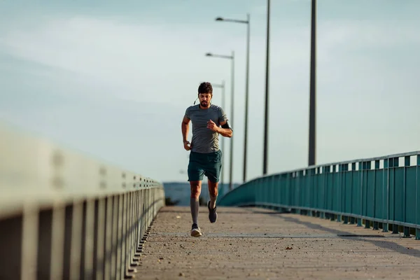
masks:
<path id="1" fill-rule="evenodd" d="M 262 175 L 267 1 L 0 1 L 0 122 L 159 181 L 187 181 L 181 120 L 225 81 L 225 179 Z M 318 0 L 316 164 L 420 150 L 417 0 Z M 271 1 L 268 173 L 308 165 L 309 0 Z M 229 59 L 235 52 L 235 116 Z M 214 88 L 213 103 L 221 105 Z M 191 130 L 190 130 L 191 131 Z M 190 132 L 191 134 L 191 132 Z M 191 136 L 190 136 L 191 137 Z M 189 137 L 189 139 L 190 139 Z"/>

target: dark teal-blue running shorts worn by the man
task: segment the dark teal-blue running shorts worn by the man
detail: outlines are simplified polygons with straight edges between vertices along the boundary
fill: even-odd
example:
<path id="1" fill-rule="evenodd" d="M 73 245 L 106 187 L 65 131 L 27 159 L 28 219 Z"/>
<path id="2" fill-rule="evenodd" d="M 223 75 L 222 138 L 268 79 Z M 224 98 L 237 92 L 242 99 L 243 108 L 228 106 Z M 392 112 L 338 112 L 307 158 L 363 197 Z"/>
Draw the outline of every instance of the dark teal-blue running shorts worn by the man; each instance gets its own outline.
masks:
<path id="1" fill-rule="evenodd" d="M 188 163 L 188 181 L 203 181 L 203 176 L 213 182 L 219 181 L 222 169 L 222 151 L 214 153 L 190 152 Z"/>

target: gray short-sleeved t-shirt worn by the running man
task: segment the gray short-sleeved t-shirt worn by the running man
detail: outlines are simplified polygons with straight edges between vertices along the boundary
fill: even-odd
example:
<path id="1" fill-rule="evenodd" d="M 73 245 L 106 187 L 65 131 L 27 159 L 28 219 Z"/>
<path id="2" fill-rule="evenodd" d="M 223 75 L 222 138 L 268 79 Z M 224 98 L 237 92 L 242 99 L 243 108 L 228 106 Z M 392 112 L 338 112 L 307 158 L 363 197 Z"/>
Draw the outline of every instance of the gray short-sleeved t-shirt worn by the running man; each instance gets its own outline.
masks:
<path id="1" fill-rule="evenodd" d="M 201 109 L 200 104 L 190 106 L 186 110 L 187 118 L 193 123 L 193 139 L 191 151 L 196 153 L 214 153 L 219 150 L 218 132 L 207 128 L 207 122 L 213 120 L 216 125 L 228 120 L 225 111 L 211 104 L 209 109 Z"/>

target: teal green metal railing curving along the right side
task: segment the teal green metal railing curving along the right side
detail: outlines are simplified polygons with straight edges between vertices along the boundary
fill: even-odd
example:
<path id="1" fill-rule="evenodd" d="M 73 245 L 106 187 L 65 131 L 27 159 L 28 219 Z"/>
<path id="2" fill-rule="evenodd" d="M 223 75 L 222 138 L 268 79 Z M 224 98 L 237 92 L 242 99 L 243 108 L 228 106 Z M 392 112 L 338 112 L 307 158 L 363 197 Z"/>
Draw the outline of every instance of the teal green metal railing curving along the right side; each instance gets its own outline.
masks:
<path id="1" fill-rule="evenodd" d="M 262 176 L 220 206 L 256 206 L 356 223 L 420 239 L 420 152 L 317 165 Z"/>

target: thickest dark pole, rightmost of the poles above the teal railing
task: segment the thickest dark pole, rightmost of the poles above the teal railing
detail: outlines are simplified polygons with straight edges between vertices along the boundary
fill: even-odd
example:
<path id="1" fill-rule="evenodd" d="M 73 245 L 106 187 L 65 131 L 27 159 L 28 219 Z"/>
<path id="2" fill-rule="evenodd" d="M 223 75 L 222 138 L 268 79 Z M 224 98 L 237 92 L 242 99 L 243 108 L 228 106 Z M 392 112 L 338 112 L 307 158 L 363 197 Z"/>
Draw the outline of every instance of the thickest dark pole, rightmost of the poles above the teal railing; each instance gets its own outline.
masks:
<path id="1" fill-rule="evenodd" d="M 311 85 L 309 90 L 309 166 L 316 162 L 316 0 L 311 7 Z"/>

